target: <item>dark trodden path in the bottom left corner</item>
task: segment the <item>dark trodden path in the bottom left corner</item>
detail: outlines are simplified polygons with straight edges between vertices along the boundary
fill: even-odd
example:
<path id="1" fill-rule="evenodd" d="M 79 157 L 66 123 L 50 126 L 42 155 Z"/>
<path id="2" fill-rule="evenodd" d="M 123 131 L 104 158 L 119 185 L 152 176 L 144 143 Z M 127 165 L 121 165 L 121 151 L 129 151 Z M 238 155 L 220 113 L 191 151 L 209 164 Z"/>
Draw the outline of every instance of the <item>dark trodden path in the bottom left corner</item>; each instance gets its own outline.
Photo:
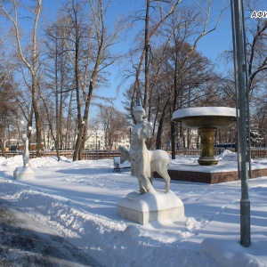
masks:
<path id="1" fill-rule="evenodd" d="M 44 223 L 8 202 L 0 202 L 0 246 L 2 267 L 101 266 Z"/>

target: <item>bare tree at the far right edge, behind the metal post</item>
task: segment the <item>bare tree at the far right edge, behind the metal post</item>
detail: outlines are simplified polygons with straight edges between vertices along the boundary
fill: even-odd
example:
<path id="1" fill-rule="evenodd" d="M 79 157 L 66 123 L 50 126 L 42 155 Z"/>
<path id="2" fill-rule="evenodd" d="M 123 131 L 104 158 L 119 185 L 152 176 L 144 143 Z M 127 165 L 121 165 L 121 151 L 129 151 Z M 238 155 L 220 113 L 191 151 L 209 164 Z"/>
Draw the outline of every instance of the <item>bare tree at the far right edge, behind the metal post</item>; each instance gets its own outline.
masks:
<path id="1" fill-rule="evenodd" d="M 247 94 L 249 97 L 251 125 L 267 128 L 266 120 L 266 74 L 267 74 L 267 21 L 263 18 L 251 18 L 255 11 L 266 7 L 263 0 L 244 1 L 246 19 L 246 59 L 247 59 Z M 232 77 L 232 51 L 224 53 L 227 62 L 231 63 L 231 74 L 224 93 L 228 97 L 235 95 L 234 77 Z M 229 78 L 230 77 L 230 78 Z M 226 84 L 226 83 L 225 83 Z M 265 131 L 265 129 L 264 129 Z"/>

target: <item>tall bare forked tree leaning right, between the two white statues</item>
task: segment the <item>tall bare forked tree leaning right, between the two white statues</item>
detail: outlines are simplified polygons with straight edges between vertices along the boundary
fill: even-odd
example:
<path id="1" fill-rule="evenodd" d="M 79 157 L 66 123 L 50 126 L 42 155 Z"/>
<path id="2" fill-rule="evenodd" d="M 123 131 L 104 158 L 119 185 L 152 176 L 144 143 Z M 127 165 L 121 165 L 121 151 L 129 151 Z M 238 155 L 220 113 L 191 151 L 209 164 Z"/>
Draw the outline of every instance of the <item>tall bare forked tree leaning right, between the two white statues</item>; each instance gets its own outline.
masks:
<path id="1" fill-rule="evenodd" d="M 77 160 L 85 146 L 89 110 L 95 92 L 106 81 L 105 69 L 117 60 L 109 52 L 117 39 L 117 29 L 109 35 L 104 20 L 107 6 L 101 0 L 71 0 L 62 12 L 65 29 L 61 38 L 74 73 L 72 88 L 77 109 L 77 140 L 73 160 Z"/>

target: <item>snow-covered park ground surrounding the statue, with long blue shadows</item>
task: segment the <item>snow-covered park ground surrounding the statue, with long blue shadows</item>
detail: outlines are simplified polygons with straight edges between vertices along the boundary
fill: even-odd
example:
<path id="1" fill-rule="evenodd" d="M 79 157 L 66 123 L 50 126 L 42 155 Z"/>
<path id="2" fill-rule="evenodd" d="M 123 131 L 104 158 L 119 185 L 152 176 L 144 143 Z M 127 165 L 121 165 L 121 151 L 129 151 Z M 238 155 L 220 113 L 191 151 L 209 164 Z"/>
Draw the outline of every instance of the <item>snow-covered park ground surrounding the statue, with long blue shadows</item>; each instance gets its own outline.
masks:
<path id="1" fill-rule="evenodd" d="M 196 160 L 177 158 L 173 164 Z M 267 160 L 260 163 L 267 167 Z M 21 156 L 0 158 L 0 199 L 103 266 L 267 266 L 267 177 L 249 181 L 252 245 L 245 248 L 239 244 L 240 182 L 172 181 L 186 217 L 140 225 L 116 214 L 117 201 L 138 190 L 138 182 L 129 170 L 113 173 L 112 159 L 35 158 L 30 165 L 36 179 L 14 180 L 22 165 Z M 164 186 L 154 179 L 156 190 Z"/>

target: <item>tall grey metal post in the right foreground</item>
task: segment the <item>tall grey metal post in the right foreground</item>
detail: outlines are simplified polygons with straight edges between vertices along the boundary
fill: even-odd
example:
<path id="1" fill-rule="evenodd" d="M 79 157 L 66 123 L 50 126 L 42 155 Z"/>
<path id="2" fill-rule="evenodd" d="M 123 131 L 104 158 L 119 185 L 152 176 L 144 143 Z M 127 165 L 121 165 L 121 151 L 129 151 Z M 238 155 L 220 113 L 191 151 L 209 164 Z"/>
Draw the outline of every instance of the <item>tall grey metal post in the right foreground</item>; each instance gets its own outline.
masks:
<path id="1" fill-rule="evenodd" d="M 240 244 L 243 247 L 251 245 L 250 240 L 250 200 L 248 197 L 247 183 L 247 61 L 243 1 L 231 0 L 231 20 L 233 36 L 234 67 L 236 77 L 236 90 L 238 97 L 237 109 L 239 150 L 240 150 L 240 174 L 241 174 L 241 199 L 240 199 Z"/>

